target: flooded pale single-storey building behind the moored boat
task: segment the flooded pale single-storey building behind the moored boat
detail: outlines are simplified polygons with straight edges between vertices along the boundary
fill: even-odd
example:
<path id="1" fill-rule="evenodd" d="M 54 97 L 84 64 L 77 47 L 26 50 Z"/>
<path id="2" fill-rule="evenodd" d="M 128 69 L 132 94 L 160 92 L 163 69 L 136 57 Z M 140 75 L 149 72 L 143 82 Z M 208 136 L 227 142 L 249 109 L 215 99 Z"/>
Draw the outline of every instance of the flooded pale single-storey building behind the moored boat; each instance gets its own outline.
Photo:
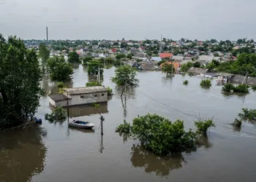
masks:
<path id="1" fill-rule="evenodd" d="M 49 103 L 54 107 L 78 106 L 88 103 L 108 101 L 108 89 L 105 87 L 78 87 L 64 89 L 64 93 L 49 95 Z"/>

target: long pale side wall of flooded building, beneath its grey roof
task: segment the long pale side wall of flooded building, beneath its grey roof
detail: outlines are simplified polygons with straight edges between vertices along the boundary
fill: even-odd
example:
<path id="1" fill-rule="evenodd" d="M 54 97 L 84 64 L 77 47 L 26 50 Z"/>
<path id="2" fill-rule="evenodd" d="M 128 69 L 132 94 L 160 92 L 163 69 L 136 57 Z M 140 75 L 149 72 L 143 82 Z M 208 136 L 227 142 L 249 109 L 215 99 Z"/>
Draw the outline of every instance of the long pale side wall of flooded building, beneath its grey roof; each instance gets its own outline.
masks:
<path id="1" fill-rule="evenodd" d="M 71 100 L 69 101 L 69 106 L 83 105 L 87 103 L 101 103 L 108 101 L 108 92 L 96 92 L 70 96 Z"/>

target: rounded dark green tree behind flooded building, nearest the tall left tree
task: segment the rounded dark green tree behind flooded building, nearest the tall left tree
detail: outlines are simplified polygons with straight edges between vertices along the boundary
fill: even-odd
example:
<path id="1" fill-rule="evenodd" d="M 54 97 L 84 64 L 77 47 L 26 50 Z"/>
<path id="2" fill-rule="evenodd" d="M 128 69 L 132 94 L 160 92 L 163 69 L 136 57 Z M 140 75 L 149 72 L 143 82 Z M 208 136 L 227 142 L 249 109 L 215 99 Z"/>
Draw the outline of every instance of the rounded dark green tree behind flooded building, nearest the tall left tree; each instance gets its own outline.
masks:
<path id="1" fill-rule="evenodd" d="M 53 56 L 47 61 L 50 69 L 50 78 L 57 81 L 66 81 L 71 79 L 73 68 L 69 63 L 66 63 L 63 57 Z"/>

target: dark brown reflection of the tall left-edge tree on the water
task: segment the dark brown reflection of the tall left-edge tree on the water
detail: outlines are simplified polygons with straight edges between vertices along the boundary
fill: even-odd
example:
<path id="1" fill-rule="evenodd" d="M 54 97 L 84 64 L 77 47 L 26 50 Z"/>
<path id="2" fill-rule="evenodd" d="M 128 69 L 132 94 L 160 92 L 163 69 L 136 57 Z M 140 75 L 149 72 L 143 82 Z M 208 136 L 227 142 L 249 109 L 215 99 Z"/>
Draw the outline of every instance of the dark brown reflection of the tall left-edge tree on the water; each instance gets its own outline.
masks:
<path id="1" fill-rule="evenodd" d="M 30 181 L 42 172 L 47 151 L 42 142 L 45 130 L 33 125 L 0 135 L 0 181 Z"/>

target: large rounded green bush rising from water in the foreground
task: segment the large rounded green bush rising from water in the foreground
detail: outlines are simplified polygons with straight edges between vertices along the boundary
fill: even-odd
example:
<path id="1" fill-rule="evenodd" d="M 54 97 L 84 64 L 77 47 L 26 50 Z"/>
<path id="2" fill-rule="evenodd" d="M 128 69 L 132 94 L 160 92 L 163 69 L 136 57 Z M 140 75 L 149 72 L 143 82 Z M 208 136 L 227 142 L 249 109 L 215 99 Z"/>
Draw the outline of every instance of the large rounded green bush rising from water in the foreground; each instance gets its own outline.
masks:
<path id="1" fill-rule="evenodd" d="M 157 114 L 147 114 L 133 119 L 132 135 L 156 154 L 169 154 L 195 147 L 194 132 L 184 131 L 180 120 L 170 122 Z"/>

